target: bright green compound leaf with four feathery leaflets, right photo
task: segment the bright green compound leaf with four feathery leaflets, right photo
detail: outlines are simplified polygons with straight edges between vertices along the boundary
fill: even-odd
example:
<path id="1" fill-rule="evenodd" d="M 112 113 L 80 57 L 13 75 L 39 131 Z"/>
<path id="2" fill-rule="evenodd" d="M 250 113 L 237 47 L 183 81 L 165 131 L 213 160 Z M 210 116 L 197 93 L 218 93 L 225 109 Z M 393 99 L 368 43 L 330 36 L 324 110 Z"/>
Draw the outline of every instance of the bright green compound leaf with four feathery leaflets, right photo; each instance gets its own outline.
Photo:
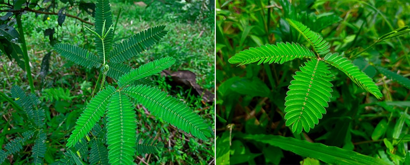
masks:
<path id="1" fill-rule="evenodd" d="M 300 68 L 300 72 L 295 73 L 285 98 L 286 126 L 291 126 L 293 132 L 301 133 L 302 130 L 308 132 L 319 123 L 319 119 L 326 113 L 325 107 L 328 107 L 327 102 L 330 101 L 331 87 L 333 86 L 330 83 L 332 80 L 329 76 L 330 68 L 326 63 L 343 71 L 359 87 L 375 95 L 378 99 L 382 97 L 374 81 L 354 66 L 350 60 L 337 53 L 328 53 L 330 51 L 329 43 L 323 40 L 318 33 L 311 31 L 295 20 L 286 20 L 305 37 L 318 56 L 299 44 L 277 43 L 276 46 L 266 45 L 241 51 L 228 61 L 231 64 L 239 63 L 239 65 L 257 62 L 259 65 L 262 63 L 283 64 L 295 58 L 311 59 L 305 63 L 306 66 Z M 323 59 L 319 57 L 319 55 L 326 53 L 328 54 Z"/>

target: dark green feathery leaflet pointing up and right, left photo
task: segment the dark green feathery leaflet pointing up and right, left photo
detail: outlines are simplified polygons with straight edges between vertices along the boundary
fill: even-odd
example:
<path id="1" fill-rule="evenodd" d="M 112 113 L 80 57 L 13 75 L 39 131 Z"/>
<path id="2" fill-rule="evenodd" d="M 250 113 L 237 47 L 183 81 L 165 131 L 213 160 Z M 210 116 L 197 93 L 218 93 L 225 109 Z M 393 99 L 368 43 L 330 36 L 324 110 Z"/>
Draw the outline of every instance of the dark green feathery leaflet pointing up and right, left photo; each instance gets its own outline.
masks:
<path id="1" fill-rule="evenodd" d="M 134 57 L 138 53 L 150 48 L 164 37 L 167 33 L 164 29 L 164 25 L 156 26 L 133 35 L 126 42 L 117 45 L 116 48 L 109 53 L 108 59 L 111 62 L 121 63 Z"/>

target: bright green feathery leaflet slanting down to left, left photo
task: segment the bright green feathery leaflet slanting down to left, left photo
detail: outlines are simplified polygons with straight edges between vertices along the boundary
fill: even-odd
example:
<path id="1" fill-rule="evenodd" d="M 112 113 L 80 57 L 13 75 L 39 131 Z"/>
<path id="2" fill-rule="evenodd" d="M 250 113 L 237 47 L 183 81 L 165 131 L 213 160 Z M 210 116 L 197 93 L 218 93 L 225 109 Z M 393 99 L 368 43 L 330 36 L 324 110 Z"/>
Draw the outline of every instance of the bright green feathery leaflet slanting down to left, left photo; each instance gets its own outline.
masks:
<path id="1" fill-rule="evenodd" d="M 67 139 L 66 146 L 68 148 L 71 148 L 83 138 L 104 115 L 108 100 L 115 91 L 114 87 L 108 86 L 90 100 L 81 116 L 77 119 L 76 126 L 70 137 Z"/>

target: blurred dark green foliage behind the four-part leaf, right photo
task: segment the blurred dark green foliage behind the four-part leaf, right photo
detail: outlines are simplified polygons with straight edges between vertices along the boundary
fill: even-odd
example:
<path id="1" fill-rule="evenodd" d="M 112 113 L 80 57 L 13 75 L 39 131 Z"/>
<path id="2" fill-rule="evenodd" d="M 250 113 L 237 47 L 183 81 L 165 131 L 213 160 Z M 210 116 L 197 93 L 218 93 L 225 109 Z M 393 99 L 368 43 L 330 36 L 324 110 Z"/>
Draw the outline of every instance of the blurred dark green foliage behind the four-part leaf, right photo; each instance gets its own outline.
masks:
<path id="1" fill-rule="evenodd" d="M 410 36 L 378 40 L 408 24 L 409 8 L 402 1 L 217 1 L 217 163 L 408 163 Z M 331 52 L 352 60 L 376 82 L 382 99 L 332 69 L 326 114 L 309 132 L 292 133 L 285 127 L 285 96 L 306 60 L 228 63 L 250 47 L 277 42 L 308 46 L 286 18 L 318 32 Z M 339 154 L 331 155 L 334 151 Z M 356 156 L 365 162 L 350 159 Z"/>

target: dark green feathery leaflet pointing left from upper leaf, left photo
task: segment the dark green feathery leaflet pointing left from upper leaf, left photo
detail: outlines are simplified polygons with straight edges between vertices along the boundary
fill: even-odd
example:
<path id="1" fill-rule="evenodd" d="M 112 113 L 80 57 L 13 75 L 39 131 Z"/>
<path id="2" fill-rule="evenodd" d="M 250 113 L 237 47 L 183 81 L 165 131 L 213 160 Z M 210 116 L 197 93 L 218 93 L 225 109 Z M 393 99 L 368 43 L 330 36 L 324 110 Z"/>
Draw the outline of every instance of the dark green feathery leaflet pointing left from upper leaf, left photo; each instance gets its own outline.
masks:
<path id="1" fill-rule="evenodd" d="M 54 50 L 70 61 L 87 68 L 99 68 L 101 66 L 98 57 L 78 46 L 70 44 L 56 44 Z"/>

